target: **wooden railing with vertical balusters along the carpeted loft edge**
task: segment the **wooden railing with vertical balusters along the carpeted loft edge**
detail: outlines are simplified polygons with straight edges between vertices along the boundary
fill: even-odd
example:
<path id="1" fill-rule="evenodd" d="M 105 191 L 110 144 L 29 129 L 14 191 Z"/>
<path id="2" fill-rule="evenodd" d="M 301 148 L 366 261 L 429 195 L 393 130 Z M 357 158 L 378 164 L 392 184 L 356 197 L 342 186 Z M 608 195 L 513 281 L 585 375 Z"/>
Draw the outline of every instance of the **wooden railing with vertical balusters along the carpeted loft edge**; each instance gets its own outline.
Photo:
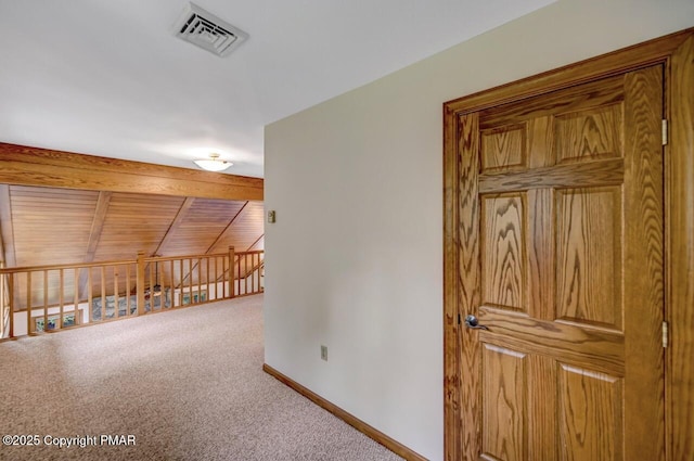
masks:
<path id="1" fill-rule="evenodd" d="M 0 338 L 262 293 L 262 251 L 0 267 Z"/>

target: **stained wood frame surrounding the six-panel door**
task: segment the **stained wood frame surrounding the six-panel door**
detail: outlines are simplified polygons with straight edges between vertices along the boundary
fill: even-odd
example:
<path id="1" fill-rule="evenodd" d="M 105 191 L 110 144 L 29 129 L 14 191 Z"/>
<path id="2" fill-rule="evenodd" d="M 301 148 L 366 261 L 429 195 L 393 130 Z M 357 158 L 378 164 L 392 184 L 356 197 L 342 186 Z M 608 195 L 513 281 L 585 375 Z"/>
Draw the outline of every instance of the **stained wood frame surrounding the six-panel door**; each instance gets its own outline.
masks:
<path id="1" fill-rule="evenodd" d="M 444 104 L 444 450 L 462 459 L 461 317 L 459 311 L 459 161 L 462 114 L 540 95 L 651 65 L 665 69 L 668 143 L 665 169 L 666 459 L 694 454 L 694 28 L 581 61 Z"/>

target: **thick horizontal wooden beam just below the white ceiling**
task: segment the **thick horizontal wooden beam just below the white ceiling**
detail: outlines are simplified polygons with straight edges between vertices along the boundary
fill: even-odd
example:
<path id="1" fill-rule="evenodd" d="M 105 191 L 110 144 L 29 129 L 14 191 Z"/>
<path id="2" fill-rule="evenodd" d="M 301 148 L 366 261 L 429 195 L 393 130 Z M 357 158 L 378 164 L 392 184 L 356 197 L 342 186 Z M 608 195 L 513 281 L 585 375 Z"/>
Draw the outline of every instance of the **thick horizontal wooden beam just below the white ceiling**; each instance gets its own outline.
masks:
<path id="1" fill-rule="evenodd" d="M 264 199 L 262 178 L 0 143 L 0 183 L 223 200 Z"/>

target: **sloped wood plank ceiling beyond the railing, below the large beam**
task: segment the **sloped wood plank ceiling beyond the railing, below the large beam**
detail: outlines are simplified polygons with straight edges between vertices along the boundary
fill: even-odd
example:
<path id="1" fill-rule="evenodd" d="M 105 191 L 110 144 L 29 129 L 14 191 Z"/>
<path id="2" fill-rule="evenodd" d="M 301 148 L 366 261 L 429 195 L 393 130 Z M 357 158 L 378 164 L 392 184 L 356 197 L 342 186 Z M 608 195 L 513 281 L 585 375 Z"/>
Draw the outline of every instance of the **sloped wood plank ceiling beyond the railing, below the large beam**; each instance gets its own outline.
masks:
<path id="1" fill-rule="evenodd" d="M 264 204 L 0 184 L 8 267 L 264 248 Z"/>

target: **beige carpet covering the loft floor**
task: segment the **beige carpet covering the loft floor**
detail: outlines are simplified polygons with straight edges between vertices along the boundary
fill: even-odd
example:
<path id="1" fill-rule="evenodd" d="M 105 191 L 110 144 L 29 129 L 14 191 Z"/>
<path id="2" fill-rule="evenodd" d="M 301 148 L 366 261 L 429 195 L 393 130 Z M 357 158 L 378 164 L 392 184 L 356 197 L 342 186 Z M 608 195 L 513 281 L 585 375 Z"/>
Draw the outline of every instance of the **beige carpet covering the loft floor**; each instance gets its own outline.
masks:
<path id="1" fill-rule="evenodd" d="M 262 372 L 261 306 L 258 295 L 0 343 L 0 433 L 40 444 L 4 437 L 0 459 L 399 460 Z M 134 445 L 108 445 L 128 435 Z"/>

